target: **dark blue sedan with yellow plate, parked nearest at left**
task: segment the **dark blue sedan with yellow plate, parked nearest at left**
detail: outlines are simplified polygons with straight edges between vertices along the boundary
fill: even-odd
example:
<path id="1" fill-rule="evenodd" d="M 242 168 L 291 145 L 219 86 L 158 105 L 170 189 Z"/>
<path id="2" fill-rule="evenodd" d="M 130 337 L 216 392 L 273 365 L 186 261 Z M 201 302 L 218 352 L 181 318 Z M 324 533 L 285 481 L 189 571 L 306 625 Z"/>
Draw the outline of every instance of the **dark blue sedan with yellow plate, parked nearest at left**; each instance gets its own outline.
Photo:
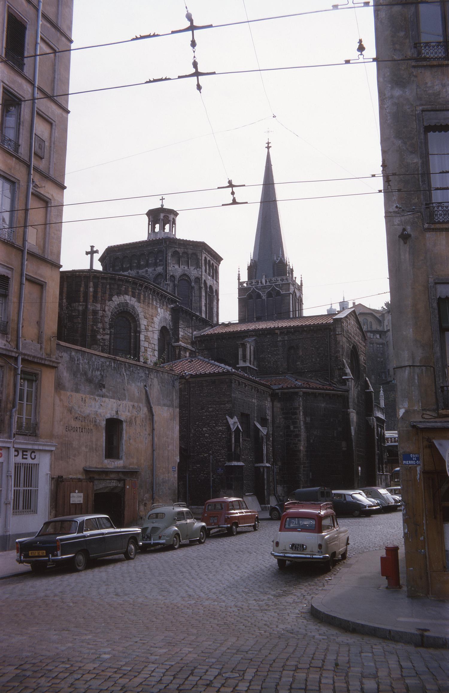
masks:
<path id="1" fill-rule="evenodd" d="M 80 572 L 89 559 L 123 554 L 132 561 L 142 545 L 140 527 L 114 527 L 107 515 L 69 515 L 48 520 L 36 536 L 16 541 L 17 563 L 27 563 L 33 572 L 48 565 L 70 564 Z"/>

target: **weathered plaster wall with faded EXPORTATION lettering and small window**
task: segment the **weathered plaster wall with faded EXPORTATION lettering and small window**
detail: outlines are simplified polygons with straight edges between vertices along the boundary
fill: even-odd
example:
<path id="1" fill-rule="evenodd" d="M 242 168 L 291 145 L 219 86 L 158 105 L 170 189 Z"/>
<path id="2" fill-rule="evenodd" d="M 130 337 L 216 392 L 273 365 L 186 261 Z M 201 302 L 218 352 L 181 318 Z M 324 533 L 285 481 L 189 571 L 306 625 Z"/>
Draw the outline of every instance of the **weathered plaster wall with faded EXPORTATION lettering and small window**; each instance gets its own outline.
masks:
<path id="1" fill-rule="evenodd" d="M 122 358 L 57 343 L 55 385 L 55 442 L 51 507 L 57 511 L 57 485 L 62 480 L 89 479 L 95 491 L 136 484 L 136 523 L 152 502 L 152 414 L 145 393 L 149 390 L 155 414 L 156 502 L 177 500 L 178 378 Z M 120 457 L 107 459 L 106 421 L 122 422 Z M 73 489 L 75 490 L 75 489 Z M 123 486 L 123 491 L 125 486 Z M 95 495 L 95 493 L 93 494 Z M 101 500 L 101 499 L 100 499 Z M 122 499 L 123 500 L 123 499 Z M 73 511 L 93 511 L 73 507 Z"/>

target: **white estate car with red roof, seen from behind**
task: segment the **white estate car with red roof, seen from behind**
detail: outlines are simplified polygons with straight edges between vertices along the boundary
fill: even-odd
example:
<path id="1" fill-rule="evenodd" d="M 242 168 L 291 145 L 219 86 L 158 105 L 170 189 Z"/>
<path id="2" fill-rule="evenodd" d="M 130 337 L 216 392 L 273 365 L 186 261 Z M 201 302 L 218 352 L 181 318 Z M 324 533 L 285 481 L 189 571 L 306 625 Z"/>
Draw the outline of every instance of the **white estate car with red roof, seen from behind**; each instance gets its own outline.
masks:
<path id="1" fill-rule="evenodd" d="M 292 500 L 284 505 L 271 555 L 281 569 L 287 561 L 316 561 L 331 570 L 336 559 L 347 558 L 348 544 L 348 530 L 338 526 L 332 503 Z"/>

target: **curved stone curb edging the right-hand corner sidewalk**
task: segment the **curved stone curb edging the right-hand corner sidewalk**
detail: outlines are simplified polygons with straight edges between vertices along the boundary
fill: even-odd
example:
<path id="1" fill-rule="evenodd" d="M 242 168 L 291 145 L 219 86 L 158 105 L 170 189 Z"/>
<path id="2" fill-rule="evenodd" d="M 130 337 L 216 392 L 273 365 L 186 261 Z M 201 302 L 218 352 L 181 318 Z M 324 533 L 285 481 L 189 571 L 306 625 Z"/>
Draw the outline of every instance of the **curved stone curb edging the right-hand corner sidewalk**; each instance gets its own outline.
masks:
<path id="1" fill-rule="evenodd" d="M 349 633 L 360 633 L 361 635 L 375 635 L 376 638 L 384 640 L 392 640 L 394 642 L 403 642 L 411 644 L 415 647 L 431 647 L 437 649 L 449 649 L 449 638 L 445 635 L 428 635 L 424 632 L 401 631 L 398 629 L 386 628 L 385 626 L 376 626 L 372 623 L 349 621 L 341 616 L 336 616 L 323 611 L 314 604 L 315 599 L 311 603 L 311 615 L 318 620 L 329 623 L 332 626 L 338 626 Z"/>

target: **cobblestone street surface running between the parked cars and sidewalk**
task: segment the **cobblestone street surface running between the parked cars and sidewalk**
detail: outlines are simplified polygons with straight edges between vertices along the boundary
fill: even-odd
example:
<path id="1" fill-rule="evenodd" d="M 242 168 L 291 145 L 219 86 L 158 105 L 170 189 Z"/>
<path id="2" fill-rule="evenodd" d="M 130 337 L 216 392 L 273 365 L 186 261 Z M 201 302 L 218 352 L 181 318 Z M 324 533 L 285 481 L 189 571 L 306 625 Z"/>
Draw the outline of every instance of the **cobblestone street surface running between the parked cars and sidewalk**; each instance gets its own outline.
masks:
<path id="1" fill-rule="evenodd" d="M 399 513 L 340 524 L 350 555 L 401 541 Z M 1 693 L 449 691 L 447 650 L 315 621 L 311 598 L 333 573 L 278 570 L 276 528 L 3 580 Z"/>

